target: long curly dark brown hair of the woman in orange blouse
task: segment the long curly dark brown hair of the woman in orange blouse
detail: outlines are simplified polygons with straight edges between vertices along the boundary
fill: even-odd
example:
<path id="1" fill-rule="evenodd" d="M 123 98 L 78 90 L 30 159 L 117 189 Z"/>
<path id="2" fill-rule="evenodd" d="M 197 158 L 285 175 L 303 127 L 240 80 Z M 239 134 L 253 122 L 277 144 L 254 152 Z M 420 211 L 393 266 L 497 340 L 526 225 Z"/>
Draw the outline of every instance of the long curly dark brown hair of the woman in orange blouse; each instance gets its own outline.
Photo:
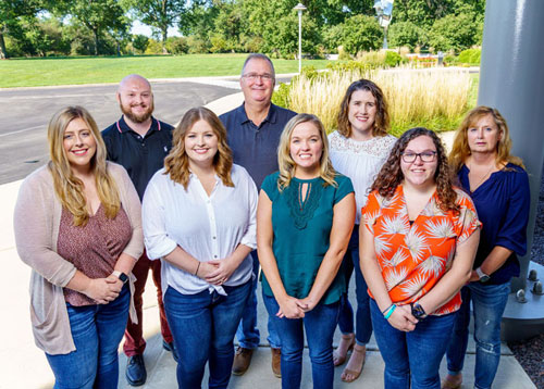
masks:
<path id="1" fill-rule="evenodd" d="M 434 181 L 436 183 L 438 206 L 444 212 L 452 210 L 458 212 L 459 205 L 456 203 L 457 193 L 454 189 L 454 179 L 444 146 L 436 134 L 423 127 L 410 128 L 398 138 L 391 151 L 387 162 L 385 162 L 374 184 L 372 184 L 371 190 L 378 190 L 381 196 L 387 199 L 391 199 L 393 195 L 395 195 L 395 190 L 403 184 L 405 178 L 403 170 L 400 168 L 403 153 L 410 140 L 422 136 L 431 138 L 436 148 L 437 165 L 436 172 L 434 173 Z"/>

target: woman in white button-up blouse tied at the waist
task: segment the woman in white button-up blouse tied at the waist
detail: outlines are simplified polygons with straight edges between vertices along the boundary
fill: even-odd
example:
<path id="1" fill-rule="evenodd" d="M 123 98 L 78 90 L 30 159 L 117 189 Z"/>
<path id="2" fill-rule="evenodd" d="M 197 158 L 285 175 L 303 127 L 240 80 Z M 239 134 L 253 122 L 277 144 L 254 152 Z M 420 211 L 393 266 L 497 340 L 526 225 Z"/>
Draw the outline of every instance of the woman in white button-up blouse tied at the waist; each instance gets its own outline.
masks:
<path id="1" fill-rule="evenodd" d="M 257 188 L 232 161 L 218 116 L 191 109 L 144 196 L 145 242 L 149 258 L 162 261 L 180 388 L 200 388 L 208 361 L 210 387 L 227 387 L 233 339 L 251 288 Z"/>

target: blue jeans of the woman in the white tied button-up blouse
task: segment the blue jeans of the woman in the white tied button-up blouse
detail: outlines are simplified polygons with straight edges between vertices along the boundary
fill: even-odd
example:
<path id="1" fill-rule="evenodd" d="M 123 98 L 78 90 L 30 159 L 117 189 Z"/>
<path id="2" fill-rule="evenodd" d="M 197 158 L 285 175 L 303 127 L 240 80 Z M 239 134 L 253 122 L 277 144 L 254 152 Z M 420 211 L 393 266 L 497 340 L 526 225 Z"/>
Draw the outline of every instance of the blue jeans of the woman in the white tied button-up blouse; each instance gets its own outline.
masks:
<path id="1" fill-rule="evenodd" d="M 164 293 L 164 310 L 180 355 L 180 388 L 200 388 L 209 361 L 210 388 L 226 388 L 234 360 L 234 334 L 251 289 L 251 281 L 223 287 L 227 296 L 203 290 L 182 294 L 172 287 Z"/>

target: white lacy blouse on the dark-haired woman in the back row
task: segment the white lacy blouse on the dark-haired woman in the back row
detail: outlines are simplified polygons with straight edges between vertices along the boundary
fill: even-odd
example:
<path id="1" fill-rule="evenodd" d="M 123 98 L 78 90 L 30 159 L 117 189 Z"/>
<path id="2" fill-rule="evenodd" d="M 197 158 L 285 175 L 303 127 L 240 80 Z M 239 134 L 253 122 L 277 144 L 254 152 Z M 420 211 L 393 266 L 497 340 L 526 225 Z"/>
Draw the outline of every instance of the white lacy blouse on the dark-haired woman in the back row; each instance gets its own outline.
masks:
<path id="1" fill-rule="evenodd" d="M 351 179 L 357 202 L 355 223 L 361 219 L 361 209 L 367 203 L 370 187 L 382 168 L 393 146 L 397 141 L 392 135 L 369 140 L 354 140 L 337 130 L 329 135 L 330 155 L 334 168 Z"/>

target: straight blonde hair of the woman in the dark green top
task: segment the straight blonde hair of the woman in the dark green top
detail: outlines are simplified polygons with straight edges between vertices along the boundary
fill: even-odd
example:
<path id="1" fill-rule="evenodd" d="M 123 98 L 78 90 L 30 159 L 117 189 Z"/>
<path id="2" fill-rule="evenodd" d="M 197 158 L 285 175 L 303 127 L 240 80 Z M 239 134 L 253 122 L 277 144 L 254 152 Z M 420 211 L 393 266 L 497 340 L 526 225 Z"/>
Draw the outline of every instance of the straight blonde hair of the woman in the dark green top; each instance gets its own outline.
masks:
<path id="1" fill-rule="evenodd" d="M 325 181 L 323 184 L 324 186 L 337 186 L 336 180 L 334 179 L 337 173 L 334 170 L 331 160 L 329 159 L 329 140 L 326 138 L 325 127 L 323 127 L 323 124 L 318 118 L 318 116 L 309 113 L 299 113 L 287 122 L 285 128 L 282 131 L 280 145 L 277 146 L 277 166 L 280 167 L 277 189 L 280 191 L 283 191 L 283 189 L 289 186 L 290 180 L 295 175 L 296 163 L 290 158 L 290 136 L 293 135 L 293 130 L 296 126 L 307 122 L 312 123 L 319 129 L 321 141 L 323 142 L 319 176 Z"/>

